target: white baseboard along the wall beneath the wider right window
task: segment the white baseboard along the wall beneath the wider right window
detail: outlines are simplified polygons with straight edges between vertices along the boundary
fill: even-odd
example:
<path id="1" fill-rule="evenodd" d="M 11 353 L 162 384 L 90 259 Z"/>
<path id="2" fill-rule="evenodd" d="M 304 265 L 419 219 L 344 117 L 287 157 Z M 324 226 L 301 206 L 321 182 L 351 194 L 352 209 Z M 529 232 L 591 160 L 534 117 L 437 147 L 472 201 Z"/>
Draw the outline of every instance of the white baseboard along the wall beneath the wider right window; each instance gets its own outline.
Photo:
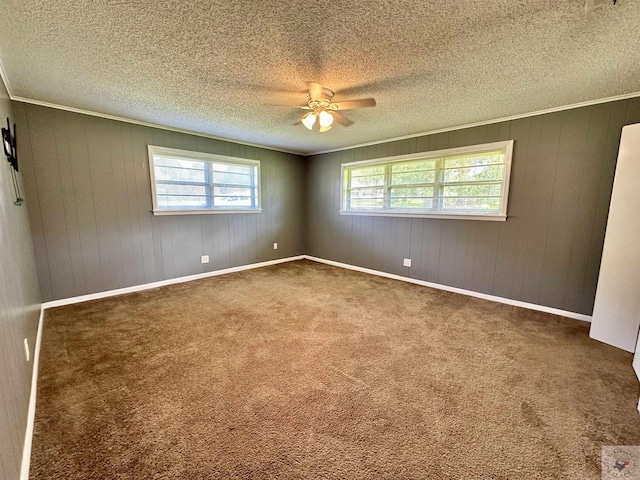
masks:
<path id="1" fill-rule="evenodd" d="M 393 273 L 381 272 L 379 270 L 372 270 L 370 268 L 357 267 L 348 263 L 334 262 L 333 260 L 325 260 L 324 258 L 312 257 L 311 255 L 304 255 L 307 260 L 314 262 L 326 263 L 335 267 L 347 268 L 349 270 L 356 270 L 358 272 L 369 273 L 371 275 L 377 275 L 379 277 L 393 278 L 394 280 L 401 280 L 403 282 L 415 283 L 430 288 L 437 288 L 438 290 L 446 290 L 447 292 L 459 293 L 461 295 L 468 295 L 470 297 L 482 298 L 484 300 L 491 300 L 492 302 L 505 303 L 507 305 L 513 305 L 514 307 L 528 308 L 529 310 L 537 310 L 540 312 L 552 313 L 554 315 L 560 315 L 562 317 L 574 318 L 576 320 L 582 320 L 583 322 L 591 322 L 591 316 L 584 315 L 582 313 L 569 312 L 567 310 L 560 310 L 558 308 L 546 307 L 544 305 L 537 305 L 535 303 L 521 302 L 520 300 L 512 300 L 510 298 L 497 297 L 495 295 L 487 295 L 486 293 L 474 292 L 472 290 L 465 290 L 463 288 L 449 287 L 448 285 L 441 285 L 439 283 L 425 282 L 424 280 L 417 280 L 415 278 L 403 277 L 402 275 L 395 275 Z"/>

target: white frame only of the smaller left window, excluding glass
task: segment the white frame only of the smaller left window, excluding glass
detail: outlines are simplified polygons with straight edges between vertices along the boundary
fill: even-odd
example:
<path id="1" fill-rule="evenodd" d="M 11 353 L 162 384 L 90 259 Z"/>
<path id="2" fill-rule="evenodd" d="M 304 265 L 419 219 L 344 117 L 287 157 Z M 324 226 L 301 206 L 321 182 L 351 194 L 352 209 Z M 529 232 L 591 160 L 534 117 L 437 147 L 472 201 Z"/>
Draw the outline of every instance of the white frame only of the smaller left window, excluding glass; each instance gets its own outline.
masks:
<path id="1" fill-rule="evenodd" d="M 151 179 L 151 199 L 153 203 L 154 215 L 202 215 L 202 214 L 218 214 L 218 213 L 261 213 L 262 212 L 262 186 L 260 184 L 260 161 L 250 160 L 247 158 L 229 157 L 226 155 L 218 155 L 214 153 L 191 152 L 187 150 L 179 150 L 176 148 L 158 147 L 155 145 L 147 145 L 149 154 L 149 177 Z M 156 195 L 156 179 L 154 157 L 171 156 L 178 159 L 198 160 L 213 163 L 226 163 L 230 165 L 252 166 L 256 168 L 256 208 L 221 208 L 209 207 L 204 209 L 167 209 L 158 207 L 158 197 Z"/>

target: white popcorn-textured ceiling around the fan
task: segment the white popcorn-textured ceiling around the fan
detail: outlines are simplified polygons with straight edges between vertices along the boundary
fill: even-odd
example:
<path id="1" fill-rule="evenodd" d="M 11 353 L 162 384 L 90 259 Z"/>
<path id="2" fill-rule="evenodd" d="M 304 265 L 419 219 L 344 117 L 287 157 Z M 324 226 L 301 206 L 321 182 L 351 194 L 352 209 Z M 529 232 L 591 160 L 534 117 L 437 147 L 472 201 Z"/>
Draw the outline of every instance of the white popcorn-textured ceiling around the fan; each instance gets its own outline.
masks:
<path id="1" fill-rule="evenodd" d="M 22 97 L 301 153 L 640 92 L 640 0 L 1 0 Z M 294 125 L 305 82 L 374 97 Z"/>

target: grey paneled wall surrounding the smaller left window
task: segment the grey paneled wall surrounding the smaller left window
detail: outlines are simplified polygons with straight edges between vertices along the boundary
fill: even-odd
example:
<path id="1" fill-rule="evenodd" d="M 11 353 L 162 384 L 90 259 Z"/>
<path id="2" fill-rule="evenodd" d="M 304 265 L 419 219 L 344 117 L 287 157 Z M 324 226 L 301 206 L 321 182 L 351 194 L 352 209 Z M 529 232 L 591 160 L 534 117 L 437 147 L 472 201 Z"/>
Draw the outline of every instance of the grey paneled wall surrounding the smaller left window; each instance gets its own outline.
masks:
<path id="1" fill-rule="evenodd" d="M 298 156 L 24 103 L 14 110 L 45 300 L 304 253 Z M 260 160 L 263 212 L 154 217 L 149 144 Z"/>

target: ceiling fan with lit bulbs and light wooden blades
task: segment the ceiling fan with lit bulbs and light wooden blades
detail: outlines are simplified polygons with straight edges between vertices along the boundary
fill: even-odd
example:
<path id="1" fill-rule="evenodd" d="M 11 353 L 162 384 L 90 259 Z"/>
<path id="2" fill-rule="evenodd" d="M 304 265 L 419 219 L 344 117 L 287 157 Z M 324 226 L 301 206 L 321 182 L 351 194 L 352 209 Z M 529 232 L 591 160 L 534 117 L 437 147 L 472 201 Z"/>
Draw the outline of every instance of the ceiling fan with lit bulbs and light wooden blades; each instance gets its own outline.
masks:
<path id="1" fill-rule="evenodd" d="M 319 83 L 307 83 L 307 104 L 296 105 L 302 110 L 310 110 L 305 113 L 300 122 L 309 130 L 318 123 L 321 132 L 331 130 L 333 123 L 339 123 L 348 127 L 353 122 L 342 115 L 339 111 L 351 110 L 354 108 L 375 107 L 376 101 L 373 98 L 360 98 L 357 100 L 345 100 L 343 102 L 333 101 L 333 90 L 323 87 Z"/>

